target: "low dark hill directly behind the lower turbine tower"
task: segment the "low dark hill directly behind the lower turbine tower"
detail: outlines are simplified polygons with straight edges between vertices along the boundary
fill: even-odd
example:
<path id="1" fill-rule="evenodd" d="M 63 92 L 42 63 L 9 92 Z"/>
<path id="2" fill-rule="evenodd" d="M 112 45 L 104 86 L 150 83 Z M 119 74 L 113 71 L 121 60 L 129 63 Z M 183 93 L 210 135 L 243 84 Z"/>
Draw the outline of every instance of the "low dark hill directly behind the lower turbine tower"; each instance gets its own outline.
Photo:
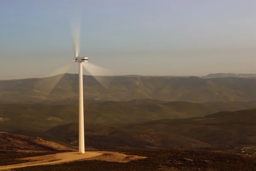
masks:
<path id="1" fill-rule="evenodd" d="M 64 140 L 67 144 L 78 145 L 78 123 L 52 128 L 46 132 L 52 139 Z M 47 136 L 46 138 L 49 138 Z M 85 124 L 85 145 L 99 150 L 129 149 L 129 148 L 180 148 L 195 149 L 212 147 L 184 136 L 154 130 L 132 130 L 123 125 Z"/>

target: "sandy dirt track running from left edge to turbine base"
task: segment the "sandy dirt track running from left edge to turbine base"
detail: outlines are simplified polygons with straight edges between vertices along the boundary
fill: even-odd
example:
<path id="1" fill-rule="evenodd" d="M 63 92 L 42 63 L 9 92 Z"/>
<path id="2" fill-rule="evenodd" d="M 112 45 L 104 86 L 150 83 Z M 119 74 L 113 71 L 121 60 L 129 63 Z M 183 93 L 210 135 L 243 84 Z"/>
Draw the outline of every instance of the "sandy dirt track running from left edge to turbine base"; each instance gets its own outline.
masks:
<path id="1" fill-rule="evenodd" d="M 50 155 L 44 155 L 44 156 L 38 156 L 38 157 L 27 157 L 27 158 L 23 158 L 23 160 L 35 160 L 35 161 L 24 162 L 16 165 L 0 166 L 0 171 L 13 169 L 13 168 L 35 166 L 35 165 L 54 165 L 54 164 L 60 164 L 63 162 L 71 162 L 74 160 L 97 157 L 100 155 L 102 155 L 102 153 L 99 153 L 99 152 L 85 152 L 84 154 L 79 154 L 78 152 L 67 152 L 67 153 L 50 154 Z"/>

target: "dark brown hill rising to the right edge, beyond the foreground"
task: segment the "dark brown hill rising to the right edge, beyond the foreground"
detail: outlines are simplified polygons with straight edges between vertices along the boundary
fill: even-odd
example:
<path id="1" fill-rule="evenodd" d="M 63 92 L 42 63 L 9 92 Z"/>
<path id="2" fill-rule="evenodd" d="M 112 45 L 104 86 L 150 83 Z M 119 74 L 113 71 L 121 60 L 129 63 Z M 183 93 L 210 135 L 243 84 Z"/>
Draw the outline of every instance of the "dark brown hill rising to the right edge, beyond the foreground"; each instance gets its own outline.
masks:
<path id="1" fill-rule="evenodd" d="M 182 135 L 220 148 L 238 148 L 250 145 L 255 148 L 256 110 L 219 112 L 200 118 L 165 119 L 132 125 L 132 130 L 148 130 Z"/>

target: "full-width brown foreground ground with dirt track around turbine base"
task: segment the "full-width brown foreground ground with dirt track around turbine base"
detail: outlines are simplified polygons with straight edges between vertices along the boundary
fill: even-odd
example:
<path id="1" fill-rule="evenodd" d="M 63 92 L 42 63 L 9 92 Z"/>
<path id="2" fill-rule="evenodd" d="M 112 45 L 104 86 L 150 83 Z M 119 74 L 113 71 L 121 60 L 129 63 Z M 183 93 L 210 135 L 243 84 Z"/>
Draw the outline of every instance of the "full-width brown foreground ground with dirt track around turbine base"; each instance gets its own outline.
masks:
<path id="1" fill-rule="evenodd" d="M 12 171 L 255 171 L 256 156 L 221 151 L 86 151 L 42 139 L 0 133 L 0 170 Z M 10 150 L 6 147 L 9 147 Z M 12 148 L 13 147 L 13 148 Z M 22 147 L 23 149 L 20 150 Z M 91 149 L 90 149 L 91 150 Z"/>

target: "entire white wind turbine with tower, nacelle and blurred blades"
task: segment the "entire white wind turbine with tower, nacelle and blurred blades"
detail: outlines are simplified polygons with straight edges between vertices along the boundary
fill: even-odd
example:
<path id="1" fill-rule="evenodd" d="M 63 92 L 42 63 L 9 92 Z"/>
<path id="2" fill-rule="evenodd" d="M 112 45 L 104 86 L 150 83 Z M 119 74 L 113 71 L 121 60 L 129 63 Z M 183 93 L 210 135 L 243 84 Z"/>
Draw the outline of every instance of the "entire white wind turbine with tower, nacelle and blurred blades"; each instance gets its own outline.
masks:
<path id="1" fill-rule="evenodd" d="M 75 18 L 77 19 L 77 18 Z M 47 88 L 44 87 L 44 92 L 49 94 L 52 89 L 55 87 L 55 85 L 58 83 L 58 81 L 61 80 L 61 78 L 64 76 L 64 73 L 66 73 L 72 64 L 75 62 L 78 62 L 79 64 L 79 153 L 84 154 L 84 98 L 83 98 L 83 67 L 85 70 L 87 70 L 99 83 L 107 88 L 109 84 L 112 81 L 112 77 L 110 76 L 99 76 L 99 75 L 113 75 L 113 72 L 110 70 L 107 70 L 105 68 L 93 65 L 91 63 L 88 63 L 88 57 L 85 56 L 79 56 L 80 51 L 80 20 L 78 23 L 73 23 L 74 20 L 71 20 L 71 32 L 73 37 L 73 48 L 74 48 L 74 55 L 73 61 L 69 64 L 64 65 L 63 67 L 59 68 L 58 70 L 55 70 L 52 74 L 58 75 L 55 76 L 54 79 L 45 79 L 47 83 Z M 76 20 L 77 21 L 77 20 Z M 62 75 L 59 75 L 62 74 Z M 38 87 L 42 88 L 41 83 L 39 82 Z"/>

